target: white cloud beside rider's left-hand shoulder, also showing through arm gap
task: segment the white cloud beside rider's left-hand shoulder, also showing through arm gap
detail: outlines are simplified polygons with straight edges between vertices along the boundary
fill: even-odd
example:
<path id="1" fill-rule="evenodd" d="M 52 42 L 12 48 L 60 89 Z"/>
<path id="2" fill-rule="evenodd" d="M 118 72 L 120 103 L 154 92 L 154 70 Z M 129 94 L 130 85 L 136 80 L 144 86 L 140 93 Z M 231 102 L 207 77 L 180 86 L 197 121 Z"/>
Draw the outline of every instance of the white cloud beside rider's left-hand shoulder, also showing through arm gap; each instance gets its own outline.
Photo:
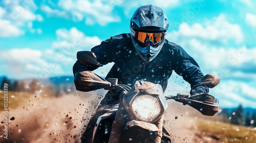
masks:
<path id="1" fill-rule="evenodd" d="M 47 55 L 51 61 L 55 61 L 61 65 L 62 69 L 66 69 L 70 75 L 72 74 L 72 67 L 75 63 L 76 53 L 78 51 L 91 51 L 92 47 L 100 44 L 97 36 L 89 37 L 83 32 L 78 31 L 75 27 L 70 30 L 58 29 L 56 30 L 57 40 L 52 43 L 52 50 L 47 51 Z M 58 55 L 58 56 L 56 56 Z M 113 63 L 100 67 L 94 72 L 99 76 L 105 77 L 113 66 Z"/>

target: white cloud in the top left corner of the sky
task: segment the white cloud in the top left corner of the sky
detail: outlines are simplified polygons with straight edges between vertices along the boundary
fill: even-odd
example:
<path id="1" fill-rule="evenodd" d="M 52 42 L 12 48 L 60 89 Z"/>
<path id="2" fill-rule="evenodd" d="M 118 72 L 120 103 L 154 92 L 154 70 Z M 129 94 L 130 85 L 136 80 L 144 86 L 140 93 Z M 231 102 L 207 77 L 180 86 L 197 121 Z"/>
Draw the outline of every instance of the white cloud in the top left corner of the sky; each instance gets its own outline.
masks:
<path id="1" fill-rule="evenodd" d="M 24 34 L 23 28 L 30 26 L 28 23 L 42 17 L 35 15 L 37 9 L 33 1 L 4 0 L 0 3 L 0 37 L 16 37 Z M 7 22 L 5 22 L 7 21 Z"/>

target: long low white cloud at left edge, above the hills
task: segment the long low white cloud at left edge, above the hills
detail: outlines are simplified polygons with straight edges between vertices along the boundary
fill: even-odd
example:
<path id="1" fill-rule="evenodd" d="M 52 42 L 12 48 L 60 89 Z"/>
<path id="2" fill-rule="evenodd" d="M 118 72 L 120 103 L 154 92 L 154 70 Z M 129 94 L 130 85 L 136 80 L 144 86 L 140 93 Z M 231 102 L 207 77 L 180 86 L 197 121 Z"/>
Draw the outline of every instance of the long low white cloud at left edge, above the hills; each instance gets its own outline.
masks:
<path id="1" fill-rule="evenodd" d="M 43 79 L 72 74 L 71 63 L 74 63 L 74 61 L 49 49 L 39 51 L 23 48 L 0 52 L 1 62 L 5 63 L 1 64 L 2 73 L 11 78 Z M 52 60 L 53 58 L 57 60 Z"/>

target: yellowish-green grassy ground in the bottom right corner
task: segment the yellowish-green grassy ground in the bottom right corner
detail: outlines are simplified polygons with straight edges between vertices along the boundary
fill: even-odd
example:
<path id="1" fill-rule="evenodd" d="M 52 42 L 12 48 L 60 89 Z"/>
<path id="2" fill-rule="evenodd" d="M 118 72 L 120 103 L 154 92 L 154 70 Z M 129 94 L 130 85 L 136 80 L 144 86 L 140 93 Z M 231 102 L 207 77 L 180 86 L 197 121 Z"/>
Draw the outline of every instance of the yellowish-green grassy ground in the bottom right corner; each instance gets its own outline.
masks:
<path id="1" fill-rule="evenodd" d="M 197 128 L 198 137 L 209 136 L 216 142 L 256 142 L 256 128 L 205 120 L 198 120 Z"/>

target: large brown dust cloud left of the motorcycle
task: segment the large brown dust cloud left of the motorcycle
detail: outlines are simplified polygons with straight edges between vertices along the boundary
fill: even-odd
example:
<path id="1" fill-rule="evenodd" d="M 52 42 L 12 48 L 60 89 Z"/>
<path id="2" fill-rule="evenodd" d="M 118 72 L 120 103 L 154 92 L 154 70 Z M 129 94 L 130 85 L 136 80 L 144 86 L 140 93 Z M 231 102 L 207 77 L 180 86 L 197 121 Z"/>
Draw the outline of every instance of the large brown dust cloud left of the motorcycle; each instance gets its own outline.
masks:
<path id="1" fill-rule="evenodd" d="M 93 91 L 20 99 L 23 104 L 9 109 L 8 139 L 3 135 L 4 122 L 0 123 L 0 142 L 80 142 L 102 97 L 102 91 Z"/>

